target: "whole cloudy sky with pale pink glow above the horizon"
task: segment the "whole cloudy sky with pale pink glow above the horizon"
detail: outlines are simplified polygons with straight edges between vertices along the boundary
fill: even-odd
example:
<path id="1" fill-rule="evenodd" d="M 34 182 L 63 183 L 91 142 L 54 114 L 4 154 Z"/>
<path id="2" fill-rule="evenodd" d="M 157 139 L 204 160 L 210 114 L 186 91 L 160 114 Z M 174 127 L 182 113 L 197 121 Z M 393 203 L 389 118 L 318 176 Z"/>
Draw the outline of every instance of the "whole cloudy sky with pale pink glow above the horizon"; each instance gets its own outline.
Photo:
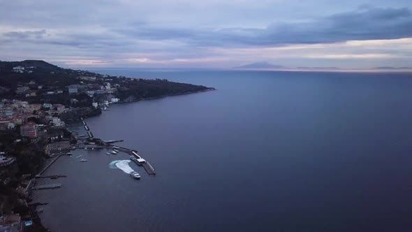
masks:
<path id="1" fill-rule="evenodd" d="M 411 0 L 0 0 L 0 60 L 412 66 Z"/>

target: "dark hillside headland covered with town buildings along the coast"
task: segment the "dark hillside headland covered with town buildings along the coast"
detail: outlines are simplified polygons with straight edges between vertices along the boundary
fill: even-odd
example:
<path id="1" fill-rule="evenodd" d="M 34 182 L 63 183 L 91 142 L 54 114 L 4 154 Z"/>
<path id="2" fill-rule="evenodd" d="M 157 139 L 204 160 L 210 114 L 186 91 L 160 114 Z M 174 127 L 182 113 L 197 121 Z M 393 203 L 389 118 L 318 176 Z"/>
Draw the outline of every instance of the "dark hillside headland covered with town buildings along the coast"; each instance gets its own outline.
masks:
<path id="1" fill-rule="evenodd" d="M 66 124 L 100 115 L 115 103 L 212 89 L 59 68 L 45 61 L 0 61 L 1 229 L 45 231 L 31 185 L 54 154 L 70 154 L 78 146 Z M 90 137 L 82 145 L 99 143 Z"/>

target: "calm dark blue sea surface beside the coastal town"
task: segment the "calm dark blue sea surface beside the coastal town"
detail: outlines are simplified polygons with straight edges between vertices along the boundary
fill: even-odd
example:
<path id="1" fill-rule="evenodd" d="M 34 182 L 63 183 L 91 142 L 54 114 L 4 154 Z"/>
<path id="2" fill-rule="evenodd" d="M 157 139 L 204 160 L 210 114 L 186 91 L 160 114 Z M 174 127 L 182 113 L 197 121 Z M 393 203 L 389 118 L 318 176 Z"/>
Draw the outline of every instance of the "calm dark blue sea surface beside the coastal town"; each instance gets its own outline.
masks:
<path id="1" fill-rule="evenodd" d="M 87 119 L 156 168 L 133 180 L 76 150 L 37 191 L 54 231 L 412 231 L 412 76 L 101 70 L 216 91 Z M 75 157 L 82 154 L 88 162 Z"/>

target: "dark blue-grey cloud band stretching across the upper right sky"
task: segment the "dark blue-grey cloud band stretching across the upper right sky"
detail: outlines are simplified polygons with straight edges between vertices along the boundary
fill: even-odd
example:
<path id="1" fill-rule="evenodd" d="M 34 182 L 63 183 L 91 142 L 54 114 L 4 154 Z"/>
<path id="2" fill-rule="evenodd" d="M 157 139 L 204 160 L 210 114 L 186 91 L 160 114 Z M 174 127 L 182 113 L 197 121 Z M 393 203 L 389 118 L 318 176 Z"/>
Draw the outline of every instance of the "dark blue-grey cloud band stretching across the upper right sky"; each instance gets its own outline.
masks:
<path id="1" fill-rule="evenodd" d="M 185 40 L 200 46 L 336 43 L 411 37 L 412 14 L 409 8 L 362 6 L 358 10 L 321 17 L 311 22 L 275 22 L 265 29 L 170 29 L 142 26 L 115 31 L 135 38 Z"/>

